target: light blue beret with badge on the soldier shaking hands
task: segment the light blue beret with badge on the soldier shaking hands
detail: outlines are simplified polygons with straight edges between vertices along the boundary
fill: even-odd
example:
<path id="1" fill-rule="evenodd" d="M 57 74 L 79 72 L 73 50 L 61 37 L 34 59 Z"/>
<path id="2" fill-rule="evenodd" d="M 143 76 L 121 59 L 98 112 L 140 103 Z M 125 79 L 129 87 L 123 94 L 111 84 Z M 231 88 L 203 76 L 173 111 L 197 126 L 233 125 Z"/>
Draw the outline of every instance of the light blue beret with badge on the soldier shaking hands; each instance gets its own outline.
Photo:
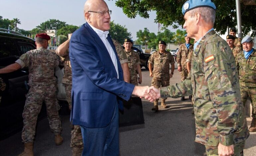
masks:
<path id="1" fill-rule="evenodd" d="M 188 0 L 182 6 L 182 13 L 185 15 L 187 11 L 198 7 L 209 7 L 216 10 L 216 6 L 211 0 Z"/>

